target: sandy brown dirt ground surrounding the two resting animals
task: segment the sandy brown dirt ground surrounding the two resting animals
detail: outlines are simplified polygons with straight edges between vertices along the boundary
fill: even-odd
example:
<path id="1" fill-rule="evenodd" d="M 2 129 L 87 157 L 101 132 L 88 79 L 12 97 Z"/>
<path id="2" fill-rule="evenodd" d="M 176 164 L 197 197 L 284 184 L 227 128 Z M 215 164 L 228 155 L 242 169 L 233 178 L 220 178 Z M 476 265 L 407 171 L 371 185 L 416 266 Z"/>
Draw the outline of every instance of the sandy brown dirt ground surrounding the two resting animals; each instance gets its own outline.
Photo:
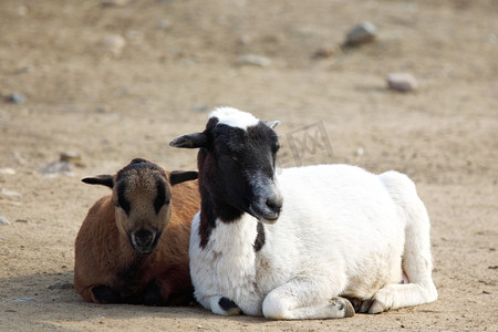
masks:
<path id="1" fill-rule="evenodd" d="M 116 2 L 0 3 L 1 331 L 498 331 L 496 0 Z M 341 50 L 365 20 L 377 40 Z M 237 64 L 245 54 L 271 63 Z M 392 72 L 418 90 L 387 90 Z M 134 157 L 195 169 L 196 153 L 168 143 L 218 105 L 280 120 L 282 167 L 408 174 L 432 217 L 438 301 L 295 322 L 83 302 L 73 242 L 108 190 L 80 179 Z M 43 170 L 61 152 L 82 160 Z"/>

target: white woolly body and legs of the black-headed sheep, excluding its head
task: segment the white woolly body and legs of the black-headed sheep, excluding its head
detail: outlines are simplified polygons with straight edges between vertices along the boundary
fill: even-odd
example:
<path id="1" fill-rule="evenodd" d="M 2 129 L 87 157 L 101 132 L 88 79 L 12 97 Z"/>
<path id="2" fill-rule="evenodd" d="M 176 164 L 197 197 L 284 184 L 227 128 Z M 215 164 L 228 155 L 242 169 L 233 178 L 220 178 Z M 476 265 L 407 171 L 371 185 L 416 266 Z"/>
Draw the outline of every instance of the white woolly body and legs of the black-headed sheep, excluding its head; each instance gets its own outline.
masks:
<path id="1" fill-rule="evenodd" d="M 225 297 L 249 315 L 324 319 L 344 317 L 338 295 L 373 299 L 371 313 L 436 300 L 429 220 L 405 175 L 320 165 L 283 169 L 279 183 L 283 209 L 258 252 L 253 217 L 217 220 L 205 248 L 194 218 L 190 272 L 205 308 L 238 313 Z M 400 284 L 403 271 L 412 283 Z"/>

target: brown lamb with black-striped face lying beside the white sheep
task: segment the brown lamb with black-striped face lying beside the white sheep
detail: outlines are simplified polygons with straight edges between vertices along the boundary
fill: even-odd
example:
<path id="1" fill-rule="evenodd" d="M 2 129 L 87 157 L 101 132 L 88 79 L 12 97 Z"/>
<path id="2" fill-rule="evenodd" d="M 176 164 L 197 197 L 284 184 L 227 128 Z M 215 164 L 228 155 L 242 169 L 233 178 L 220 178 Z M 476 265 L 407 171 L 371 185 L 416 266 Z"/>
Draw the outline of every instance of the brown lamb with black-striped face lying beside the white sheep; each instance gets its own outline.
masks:
<path id="1" fill-rule="evenodd" d="M 74 287 L 85 301 L 193 301 L 188 242 L 199 209 L 196 178 L 197 172 L 165 172 L 137 158 L 116 175 L 82 179 L 113 189 L 89 210 L 75 240 Z"/>

